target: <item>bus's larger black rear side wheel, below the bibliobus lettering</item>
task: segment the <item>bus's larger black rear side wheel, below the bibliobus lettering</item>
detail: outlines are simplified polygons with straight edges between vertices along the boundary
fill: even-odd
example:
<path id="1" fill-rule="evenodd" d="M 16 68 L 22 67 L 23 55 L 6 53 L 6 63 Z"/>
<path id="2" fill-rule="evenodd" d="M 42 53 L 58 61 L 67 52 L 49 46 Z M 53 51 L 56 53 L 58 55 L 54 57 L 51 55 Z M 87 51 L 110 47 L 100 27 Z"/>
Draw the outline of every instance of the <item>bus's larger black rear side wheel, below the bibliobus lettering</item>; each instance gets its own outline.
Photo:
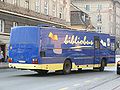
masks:
<path id="1" fill-rule="evenodd" d="M 64 74 L 69 74 L 71 72 L 72 68 L 72 63 L 70 60 L 65 60 L 64 65 L 63 65 L 63 73 Z"/>

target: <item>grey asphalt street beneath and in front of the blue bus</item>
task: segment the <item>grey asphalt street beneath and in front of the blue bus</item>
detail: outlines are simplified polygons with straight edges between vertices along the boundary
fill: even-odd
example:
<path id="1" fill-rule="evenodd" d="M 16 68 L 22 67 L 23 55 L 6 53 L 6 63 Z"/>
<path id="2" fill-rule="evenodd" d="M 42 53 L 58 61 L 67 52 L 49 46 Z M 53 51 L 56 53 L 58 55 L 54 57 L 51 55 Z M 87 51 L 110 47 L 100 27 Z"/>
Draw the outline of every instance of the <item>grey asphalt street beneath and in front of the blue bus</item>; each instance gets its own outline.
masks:
<path id="1" fill-rule="evenodd" d="M 0 69 L 0 90 L 120 90 L 115 68 L 104 72 L 84 70 L 69 75 L 50 72 L 40 76 L 33 71 Z"/>

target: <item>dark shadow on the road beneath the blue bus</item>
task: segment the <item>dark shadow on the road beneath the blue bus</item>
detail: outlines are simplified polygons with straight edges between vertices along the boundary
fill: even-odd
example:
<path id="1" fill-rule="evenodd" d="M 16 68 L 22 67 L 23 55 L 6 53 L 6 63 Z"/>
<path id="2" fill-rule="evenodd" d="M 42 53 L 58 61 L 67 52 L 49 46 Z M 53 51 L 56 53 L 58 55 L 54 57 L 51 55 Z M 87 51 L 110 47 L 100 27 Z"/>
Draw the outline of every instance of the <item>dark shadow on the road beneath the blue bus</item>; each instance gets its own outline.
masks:
<path id="1" fill-rule="evenodd" d="M 70 74 L 64 75 L 62 71 L 59 72 L 49 72 L 46 75 L 40 75 L 38 73 L 30 73 L 24 75 L 16 75 L 16 77 L 53 77 L 53 76 L 73 76 L 73 75 L 86 75 L 86 74 L 109 74 L 115 73 L 115 71 L 105 70 L 104 72 L 100 72 L 98 70 L 82 70 L 82 71 L 72 71 Z"/>

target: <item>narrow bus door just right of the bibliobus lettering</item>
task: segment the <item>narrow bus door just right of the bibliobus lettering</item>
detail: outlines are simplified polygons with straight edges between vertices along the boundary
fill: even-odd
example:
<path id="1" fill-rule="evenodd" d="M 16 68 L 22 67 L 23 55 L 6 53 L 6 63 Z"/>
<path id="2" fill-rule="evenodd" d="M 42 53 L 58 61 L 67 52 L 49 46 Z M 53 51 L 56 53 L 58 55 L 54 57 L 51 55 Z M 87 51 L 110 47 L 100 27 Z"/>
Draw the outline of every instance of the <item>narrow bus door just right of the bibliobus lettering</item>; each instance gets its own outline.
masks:
<path id="1" fill-rule="evenodd" d="M 94 37 L 94 64 L 98 64 L 100 61 L 100 38 Z"/>

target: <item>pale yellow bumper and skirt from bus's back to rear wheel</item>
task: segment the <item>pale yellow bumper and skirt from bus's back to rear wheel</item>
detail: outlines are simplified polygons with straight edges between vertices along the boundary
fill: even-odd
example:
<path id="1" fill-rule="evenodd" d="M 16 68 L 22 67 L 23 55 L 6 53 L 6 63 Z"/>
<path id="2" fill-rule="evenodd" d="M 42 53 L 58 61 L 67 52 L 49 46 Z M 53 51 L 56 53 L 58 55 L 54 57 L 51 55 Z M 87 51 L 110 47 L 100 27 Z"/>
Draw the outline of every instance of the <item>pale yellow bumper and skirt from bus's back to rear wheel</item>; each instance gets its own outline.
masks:
<path id="1" fill-rule="evenodd" d="M 9 63 L 9 68 L 26 69 L 26 70 L 63 70 L 63 63 L 58 64 L 20 64 Z"/>

